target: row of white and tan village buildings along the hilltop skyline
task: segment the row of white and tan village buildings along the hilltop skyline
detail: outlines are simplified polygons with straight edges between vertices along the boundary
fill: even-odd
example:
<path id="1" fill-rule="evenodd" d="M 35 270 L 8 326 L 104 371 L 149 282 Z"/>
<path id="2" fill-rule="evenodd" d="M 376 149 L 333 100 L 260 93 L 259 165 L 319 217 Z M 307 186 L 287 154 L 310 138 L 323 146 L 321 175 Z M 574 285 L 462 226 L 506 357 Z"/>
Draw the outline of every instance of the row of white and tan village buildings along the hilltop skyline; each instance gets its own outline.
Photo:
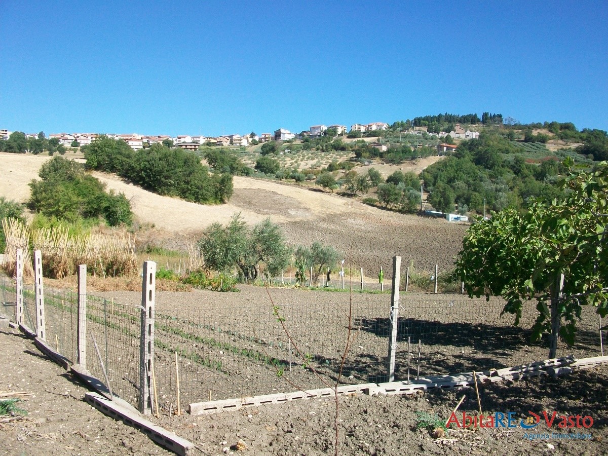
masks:
<path id="1" fill-rule="evenodd" d="M 385 122 L 372 122 L 367 124 L 354 123 L 350 126 L 350 131 L 360 131 L 361 133 L 365 133 L 368 131 L 387 130 L 387 128 L 389 128 L 389 124 Z M 294 138 L 302 138 L 303 136 L 319 137 L 324 136 L 329 129 L 335 130 L 338 135 L 344 135 L 347 133 L 347 127 L 345 125 L 313 125 L 308 131 L 302 131 L 302 133 L 299 134 L 291 133 L 291 131 L 285 130 L 285 128 L 279 128 L 278 130 L 275 130 L 274 133 L 262 133 L 259 136 L 253 132 L 243 136 L 240 134 L 229 134 L 218 137 L 202 135 L 190 136 L 187 134 L 178 135 L 176 137 L 162 134 L 158 136 L 144 136 L 137 133 L 108 134 L 106 136 L 113 139 L 124 140 L 131 148 L 133 148 L 133 150 L 142 149 L 144 145 L 148 147 L 153 144 L 162 144 L 163 142 L 173 142 L 174 145 L 186 150 L 198 150 L 199 146 L 204 144 L 212 144 L 223 147 L 245 147 L 251 143 L 254 143 L 254 141 L 255 143 L 260 143 L 270 140 L 285 141 Z M 423 134 L 426 131 L 426 126 L 416 126 L 414 127 L 413 131 L 408 133 Z M 8 139 L 11 133 L 12 131 L 0 130 L 0 139 Z M 460 127 L 460 125 L 456 125 L 454 130 L 450 131 L 449 133 L 442 131 L 440 133 L 429 134 L 433 136 L 444 136 L 449 134 L 453 139 L 476 139 L 479 137 L 479 133 L 477 131 L 465 131 Z M 95 140 L 95 138 L 97 138 L 97 136 L 97 133 L 54 133 L 51 134 L 49 138 L 57 138 L 64 146 L 71 147 L 72 144 L 75 144 L 75 142 L 77 142 L 79 146 L 90 144 L 93 140 Z M 26 137 L 38 137 L 38 134 L 26 133 Z"/>

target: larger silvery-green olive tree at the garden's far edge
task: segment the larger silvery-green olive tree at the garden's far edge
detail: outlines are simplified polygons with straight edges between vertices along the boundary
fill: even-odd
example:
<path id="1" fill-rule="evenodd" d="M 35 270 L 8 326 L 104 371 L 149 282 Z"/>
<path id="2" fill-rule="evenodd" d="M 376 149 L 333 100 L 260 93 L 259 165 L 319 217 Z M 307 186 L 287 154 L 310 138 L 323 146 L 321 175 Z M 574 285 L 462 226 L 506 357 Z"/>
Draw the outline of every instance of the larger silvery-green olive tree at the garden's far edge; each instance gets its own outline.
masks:
<path id="1" fill-rule="evenodd" d="M 207 227 L 198 246 L 207 268 L 216 271 L 238 268 L 246 281 L 259 277 L 262 265 L 270 274 L 277 274 L 291 257 L 285 234 L 277 224 L 267 218 L 249 228 L 240 213 L 225 227 L 219 223 Z"/>

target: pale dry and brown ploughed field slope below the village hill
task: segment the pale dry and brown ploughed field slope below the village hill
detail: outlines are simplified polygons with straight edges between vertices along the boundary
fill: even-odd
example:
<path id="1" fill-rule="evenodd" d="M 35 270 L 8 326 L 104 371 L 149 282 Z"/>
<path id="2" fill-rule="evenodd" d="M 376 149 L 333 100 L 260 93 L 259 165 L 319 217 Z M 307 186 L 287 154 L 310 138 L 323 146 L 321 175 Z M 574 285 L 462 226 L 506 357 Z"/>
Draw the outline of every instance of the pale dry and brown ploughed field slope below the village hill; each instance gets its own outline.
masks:
<path id="1" fill-rule="evenodd" d="M 48 157 L 30 154 L 0 154 L 0 196 L 24 202 L 29 198 L 28 182 Z M 393 255 L 412 260 L 419 269 L 431 271 L 435 263 L 445 270 L 461 246 L 466 226 L 442 219 L 402 215 L 365 206 L 342 198 L 272 181 L 236 177 L 229 204 L 202 206 L 181 199 L 159 196 L 113 174 L 94 173 L 117 192 L 131 199 L 141 224 L 154 225 L 155 237 L 170 246 L 196 237 L 213 222 L 226 223 L 235 212 L 250 223 L 270 216 L 286 232 L 289 243 L 310 245 L 315 240 L 344 252 L 352 244 L 353 263 L 373 277 L 379 267 L 390 269 Z"/>

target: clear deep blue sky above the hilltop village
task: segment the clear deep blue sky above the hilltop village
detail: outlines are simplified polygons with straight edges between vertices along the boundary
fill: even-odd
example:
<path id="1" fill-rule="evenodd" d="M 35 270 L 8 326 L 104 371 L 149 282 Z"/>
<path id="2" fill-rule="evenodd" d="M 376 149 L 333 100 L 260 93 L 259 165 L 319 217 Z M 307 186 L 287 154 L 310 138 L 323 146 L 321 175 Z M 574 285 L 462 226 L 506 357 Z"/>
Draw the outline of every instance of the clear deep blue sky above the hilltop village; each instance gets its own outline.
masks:
<path id="1" fill-rule="evenodd" d="M 0 128 L 244 134 L 500 112 L 608 130 L 608 1 L 0 2 Z"/>

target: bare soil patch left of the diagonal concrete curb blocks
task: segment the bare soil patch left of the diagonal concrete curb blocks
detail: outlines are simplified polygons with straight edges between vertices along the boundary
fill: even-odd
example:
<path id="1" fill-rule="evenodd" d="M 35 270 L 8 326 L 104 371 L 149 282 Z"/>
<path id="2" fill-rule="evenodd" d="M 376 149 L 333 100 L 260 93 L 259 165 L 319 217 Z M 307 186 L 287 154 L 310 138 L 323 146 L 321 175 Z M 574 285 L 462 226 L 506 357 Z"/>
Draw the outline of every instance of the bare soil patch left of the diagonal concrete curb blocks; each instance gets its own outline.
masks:
<path id="1" fill-rule="evenodd" d="M 0 391 L 30 392 L 23 418 L 0 416 L 0 454 L 170 455 L 145 435 L 84 401 L 84 387 L 16 330 L 0 330 Z"/>

